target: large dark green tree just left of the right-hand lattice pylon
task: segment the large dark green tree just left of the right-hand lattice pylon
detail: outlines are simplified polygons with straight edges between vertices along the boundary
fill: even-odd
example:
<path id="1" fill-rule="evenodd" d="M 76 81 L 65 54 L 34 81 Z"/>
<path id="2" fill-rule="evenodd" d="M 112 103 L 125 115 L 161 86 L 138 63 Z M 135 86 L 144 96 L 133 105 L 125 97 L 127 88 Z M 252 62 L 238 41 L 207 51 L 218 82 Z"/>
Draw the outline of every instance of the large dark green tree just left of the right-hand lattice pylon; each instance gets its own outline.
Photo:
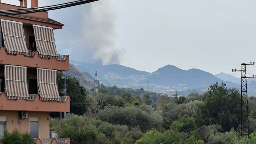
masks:
<path id="1" fill-rule="evenodd" d="M 224 131 L 230 131 L 239 124 L 240 93 L 227 88 L 224 83 L 210 86 L 209 94 L 200 107 L 200 121 L 204 125 L 220 124 Z"/>

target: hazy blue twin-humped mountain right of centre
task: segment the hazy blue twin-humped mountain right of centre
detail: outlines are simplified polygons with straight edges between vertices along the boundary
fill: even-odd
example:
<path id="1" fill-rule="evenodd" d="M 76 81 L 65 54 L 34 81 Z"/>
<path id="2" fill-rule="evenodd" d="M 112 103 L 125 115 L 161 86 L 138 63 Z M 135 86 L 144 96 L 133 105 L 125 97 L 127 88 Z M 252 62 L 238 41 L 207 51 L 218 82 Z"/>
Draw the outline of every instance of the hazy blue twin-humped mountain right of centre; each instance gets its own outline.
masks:
<path id="1" fill-rule="evenodd" d="M 182 70 L 173 65 L 166 65 L 162 68 L 159 68 L 155 72 L 151 73 L 147 80 L 140 81 L 145 83 L 149 81 L 150 84 L 155 84 L 159 86 L 181 86 L 186 88 L 198 88 L 198 87 L 207 87 L 212 83 L 218 81 L 219 83 L 224 82 L 227 85 L 236 87 L 236 84 L 231 84 L 230 82 L 221 80 L 215 77 L 213 74 L 199 70 L 199 69 L 189 69 Z M 173 87 L 173 88 L 175 88 Z"/>

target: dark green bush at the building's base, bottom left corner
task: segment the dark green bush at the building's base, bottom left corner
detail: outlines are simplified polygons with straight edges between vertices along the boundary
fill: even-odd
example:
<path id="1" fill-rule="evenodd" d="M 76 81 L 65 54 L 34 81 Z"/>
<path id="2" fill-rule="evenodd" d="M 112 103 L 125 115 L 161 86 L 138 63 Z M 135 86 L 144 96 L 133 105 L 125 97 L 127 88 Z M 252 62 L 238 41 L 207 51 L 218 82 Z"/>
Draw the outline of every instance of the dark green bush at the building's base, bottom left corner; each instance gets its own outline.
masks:
<path id="1" fill-rule="evenodd" d="M 0 142 L 2 144 L 35 144 L 29 133 L 21 134 L 18 130 L 14 130 L 12 133 L 6 131 Z"/>

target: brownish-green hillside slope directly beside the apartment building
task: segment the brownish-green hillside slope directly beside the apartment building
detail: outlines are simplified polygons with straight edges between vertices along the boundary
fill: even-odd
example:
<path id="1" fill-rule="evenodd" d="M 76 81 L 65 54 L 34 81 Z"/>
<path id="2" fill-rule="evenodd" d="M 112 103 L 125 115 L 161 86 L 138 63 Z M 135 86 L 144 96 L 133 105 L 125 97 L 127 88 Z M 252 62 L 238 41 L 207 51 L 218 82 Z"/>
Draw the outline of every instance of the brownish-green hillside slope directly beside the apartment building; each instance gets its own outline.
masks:
<path id="1" fill-rule="evenodd" d="M 71 77 L 76 77 L 76 79 L 80 81 L 80 85 L 86 88 L 93 87 L 93 81 L 91 80 L 92 76 L 89 73 L 88 74 L 90 76 L 88 76 L 88 74 L 86 75 L 84 72 L 81 72 L 72 64 L 69 64 L 69 71 L 64 72 L 64 74 Z"/>

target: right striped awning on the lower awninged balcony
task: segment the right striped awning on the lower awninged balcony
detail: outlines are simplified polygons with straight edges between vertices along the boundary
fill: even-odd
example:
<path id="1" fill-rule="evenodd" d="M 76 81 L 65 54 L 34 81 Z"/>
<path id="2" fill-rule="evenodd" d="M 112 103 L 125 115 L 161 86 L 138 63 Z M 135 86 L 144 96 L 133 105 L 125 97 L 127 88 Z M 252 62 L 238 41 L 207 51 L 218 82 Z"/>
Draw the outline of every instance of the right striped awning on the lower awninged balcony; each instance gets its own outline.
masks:
<path id="1" fill-rule="evenodd" d="M 37 69 L 38 90 L 41 100 L 58 101 L 57 70 Z"/>

